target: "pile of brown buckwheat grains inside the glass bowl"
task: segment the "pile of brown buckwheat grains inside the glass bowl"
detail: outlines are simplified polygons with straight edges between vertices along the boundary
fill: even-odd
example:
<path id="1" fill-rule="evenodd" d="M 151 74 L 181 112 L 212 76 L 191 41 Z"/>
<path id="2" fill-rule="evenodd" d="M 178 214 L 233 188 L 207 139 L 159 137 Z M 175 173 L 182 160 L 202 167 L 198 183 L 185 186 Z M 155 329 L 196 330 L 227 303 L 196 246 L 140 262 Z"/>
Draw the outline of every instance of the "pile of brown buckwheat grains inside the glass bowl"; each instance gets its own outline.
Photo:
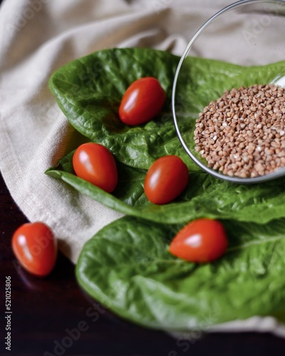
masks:
<path id="1" fill-rule="evenodd" d="M 228 90 L 199 114 L 194 140 L 209 167 L 229 176 L 258 177 L 284 167 L 284 88 Z"/>

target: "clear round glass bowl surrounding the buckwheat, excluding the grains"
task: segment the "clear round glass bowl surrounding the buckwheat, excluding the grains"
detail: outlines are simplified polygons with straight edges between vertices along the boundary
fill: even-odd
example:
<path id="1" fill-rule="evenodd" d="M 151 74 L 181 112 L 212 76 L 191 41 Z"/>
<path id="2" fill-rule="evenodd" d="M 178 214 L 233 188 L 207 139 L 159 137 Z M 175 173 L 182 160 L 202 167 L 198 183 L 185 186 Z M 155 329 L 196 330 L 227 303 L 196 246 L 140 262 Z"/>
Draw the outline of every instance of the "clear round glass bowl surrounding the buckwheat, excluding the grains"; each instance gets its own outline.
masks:
<path id="1" fill-rule="evenodd" d="M 283 0 L 238 1 L 206 21 L 180 58 L 172 90 L 177 135 L 192 160 L 214 177 L 256 183 L 285 175 L 285 167 L 257 177 L 224 174 L 209 167 L 195 150 L 194 140 L 199 112 L 226 90 L 269 83 L 285 86 L 284 15 Z M 277 62 L 279 64 L 272 65 Z M 186 86 L 185 78 L 190 82 Z"/>

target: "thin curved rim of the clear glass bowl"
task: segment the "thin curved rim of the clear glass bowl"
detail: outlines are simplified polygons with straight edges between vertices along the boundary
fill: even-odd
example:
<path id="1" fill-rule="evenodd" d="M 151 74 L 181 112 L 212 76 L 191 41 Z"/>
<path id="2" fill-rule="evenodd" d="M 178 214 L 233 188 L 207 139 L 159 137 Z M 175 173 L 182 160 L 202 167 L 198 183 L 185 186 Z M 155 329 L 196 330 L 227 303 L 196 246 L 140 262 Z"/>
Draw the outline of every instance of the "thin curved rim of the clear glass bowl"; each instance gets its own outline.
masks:
<path id="1" fill-rule="evenodd" d="M 182 53 L 182 56 L 181 56 L 180 61 L 178 63 L 178 66 L 177 66 L 177 69 L 176 69 L 176 73 L 175 73 L 175 78 L 173 80 L 173 86 L 172 86 L 172 116 L 173 116 L 173 120 L 174 120 L 174 124 L 175 124 L 175 130 L 177 132 L 178 138 L 179 138 L 182 146 L 184 147 L 185 151 L 190 156 L 190 158 L 201 169 L 203 169 L 205 172 L 211 174 L 214 177 L 226 180 L 228 182 L 246 183 L 246 184 L 266 182 L 266 181 L 269 181 L 271 179 L 277 179 L 279 177 L 283 177 L 285 175 L 285 167 L 276 170 L 276 172 L 272 172 L 270 174 L 265 174 L 263 176 L 253 177 L 253 178 L 250 178 L 250 177 L 240 178 L 240 177 L 236 177 L 236 176 L 231 177 L 229 175 L 219 173 L 217 170 L 214 170 L 214 169 L 211 169 L 211 168 L 207 167 L 202 162 L 200 162 L 199 159 L 197 159 L 197 157 L 195 157 L 195 155 L 193 155 L 193 153 L 190 151 L 189 147 L 187 146 L 185 140 L 182 137 L 182 134 L 180 132 L 179 125 L 178 125 L 178 122 L 177 122 L 176 112 L 175 112 L 175 95 L 176 95 L 177 80 L 178 80 L 179 75 L 180 75 L 180 69 L 182 67 L 182 64 L 183 64 L 185 58 L 187 57 L 187 53 L 189 53 L 190 49 L 192 48 L 193 43 L 195 43 L 195 41 L 200 36 L 200 34 L 204 31 L 204 29 L 207 28 L 209 26 L 209 24 L 212 23 L 212 21 L 217 19 L 218 16 L 226 13 L 227 11 L 230 11 L 230 10 L 233 10 L 233 9 L 237 9 L 237 8 L 239 8 L 241 6 L 244 6 L 244 5 L 255 4 L 255 3 L 272 3 L 272 4 L 279 3 L 279 4 L 283 4 L 285 6 L 285 0 L 240 0 L 240 1 L 234 2 L 233 4 L 230 4 L 229 6 L 224 7 L 224 9 L 221 9 L 220 11 L 218 11 L 216 14 L 214 14 L 212 17 L 210 17 L 209 20 L 207 20 L 199 28 L 199 30 L 192 37 L 191 41 L 187 44 L 187 47 L 185 48 L 185 51 Z"/>

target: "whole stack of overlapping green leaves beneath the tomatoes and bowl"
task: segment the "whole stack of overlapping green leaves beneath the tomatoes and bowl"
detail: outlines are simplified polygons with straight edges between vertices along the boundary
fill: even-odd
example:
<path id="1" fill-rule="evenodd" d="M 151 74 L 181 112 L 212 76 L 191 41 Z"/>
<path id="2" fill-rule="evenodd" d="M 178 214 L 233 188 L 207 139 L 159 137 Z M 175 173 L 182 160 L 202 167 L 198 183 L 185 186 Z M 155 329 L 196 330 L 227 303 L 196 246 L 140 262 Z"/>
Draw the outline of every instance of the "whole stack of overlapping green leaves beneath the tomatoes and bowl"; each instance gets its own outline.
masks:
<path id="1" fill-rule="evenodd" d="M 232 184 L 187 157 L 171 112 L 179 60 L 165 51 L 114 48 L 68 63 L 51 77 L 51 91 L 71 125 L 115 156 L 119 183 L 108 194 L 76 177 L 73 152 L 46 173 L 126 215 L 86 243 L 76 266 L 78 283 L 113 312 L 149 328 L 204 330 L 253 315 L 284 320 L 285 179 Z M 180 130 L 192 135 L 199 111 L 225 90 L 267 83 L 284 67 L 187 58 L 179 90 L 181 100 L 189 100 L 180 108 Z M 129 127 L 118 118 L 120 100 L 130 83 L 145 76 L 160 80 L 167 100 L 154 120 Z M 147 201 L 143 182 L 163 155 L 179 155 L 190 181 L 174 202 L 158 206 Z M 214 263 L 187 263 L 167 251 L 183 224 L 199 217 L 220 219 L 229 236 L 227 253 Z"/>

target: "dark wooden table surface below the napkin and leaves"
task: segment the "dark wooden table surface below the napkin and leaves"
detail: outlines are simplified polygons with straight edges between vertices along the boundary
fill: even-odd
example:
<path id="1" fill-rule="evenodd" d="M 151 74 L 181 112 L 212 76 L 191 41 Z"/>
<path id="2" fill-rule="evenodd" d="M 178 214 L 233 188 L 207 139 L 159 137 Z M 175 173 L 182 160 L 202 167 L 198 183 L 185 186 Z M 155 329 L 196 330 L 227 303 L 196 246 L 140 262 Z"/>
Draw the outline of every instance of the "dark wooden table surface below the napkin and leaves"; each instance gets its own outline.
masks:
<path id="1" fill-rule="evenodd" d="M 27 220 L 2 177 L 0 194 L 0 355 L 285 355 L 285 340 L 269 333 L 196 333 L 182 342 L 121 320 L 100 305 L 97 315 L 88 317 L 94 301 L 78 288 L 74 266 L 61 253 L 48 278 L 33 277 L 16 263 L 11 236 Z M 11 352 L 4 345 L 6 276 L 11 277 Z"/>

